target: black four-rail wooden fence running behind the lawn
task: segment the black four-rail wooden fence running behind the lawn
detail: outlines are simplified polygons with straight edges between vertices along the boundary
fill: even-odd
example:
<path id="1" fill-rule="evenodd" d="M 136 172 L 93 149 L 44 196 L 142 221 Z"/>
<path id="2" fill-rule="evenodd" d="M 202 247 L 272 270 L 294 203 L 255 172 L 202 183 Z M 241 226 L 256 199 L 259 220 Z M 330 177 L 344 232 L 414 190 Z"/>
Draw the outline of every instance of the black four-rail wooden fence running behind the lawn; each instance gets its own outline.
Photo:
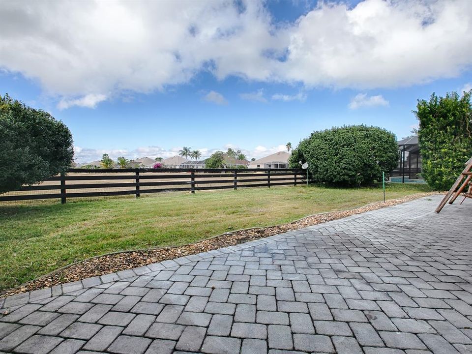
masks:
<path id="1" fill-rule="evenodd" d="M 39 184 L 0 195 L 0 202 L 87 198 L 190 191 L 271 187 L 306 183 L 298 169 L 70 169 Z"/>

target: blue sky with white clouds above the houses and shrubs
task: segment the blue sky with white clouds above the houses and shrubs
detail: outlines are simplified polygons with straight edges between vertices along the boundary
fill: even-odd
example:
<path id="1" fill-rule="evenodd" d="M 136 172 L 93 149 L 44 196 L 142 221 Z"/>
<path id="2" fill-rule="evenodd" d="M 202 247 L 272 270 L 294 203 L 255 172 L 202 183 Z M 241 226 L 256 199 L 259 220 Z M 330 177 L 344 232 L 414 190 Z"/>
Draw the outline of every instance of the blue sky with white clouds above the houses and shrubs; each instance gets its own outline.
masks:
<path id="1" fill-rule="evenodd" d="M 78 163 L 284 150 L 472 88 L 472 1 L 0 0 L 0 94 L 63 121 Z"/>

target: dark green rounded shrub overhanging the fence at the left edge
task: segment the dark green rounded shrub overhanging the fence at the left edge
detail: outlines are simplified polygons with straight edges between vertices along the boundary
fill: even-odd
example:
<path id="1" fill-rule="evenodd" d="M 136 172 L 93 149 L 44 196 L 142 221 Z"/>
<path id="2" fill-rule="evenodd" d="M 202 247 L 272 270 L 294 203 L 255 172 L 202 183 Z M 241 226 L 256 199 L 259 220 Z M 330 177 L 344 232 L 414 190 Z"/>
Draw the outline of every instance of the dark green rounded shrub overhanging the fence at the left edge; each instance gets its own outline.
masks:
<path id="1" fill-rule="evenodd" d="M 72 135 L 62 122 L 0 96 L 0 193 L 65 172 L 73 156 Z"/>

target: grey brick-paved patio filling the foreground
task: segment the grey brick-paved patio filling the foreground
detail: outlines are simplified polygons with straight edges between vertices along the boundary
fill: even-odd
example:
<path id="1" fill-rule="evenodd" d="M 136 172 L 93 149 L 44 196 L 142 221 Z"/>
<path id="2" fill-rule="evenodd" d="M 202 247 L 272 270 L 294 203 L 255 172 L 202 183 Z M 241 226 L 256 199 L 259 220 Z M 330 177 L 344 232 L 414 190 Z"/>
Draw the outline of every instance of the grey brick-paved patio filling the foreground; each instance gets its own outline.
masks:
<path id="1" fill-rule="evenodd" d="M 0 299 L 0 353 L 471 354 L 472 205 L 440 200 Z"/>

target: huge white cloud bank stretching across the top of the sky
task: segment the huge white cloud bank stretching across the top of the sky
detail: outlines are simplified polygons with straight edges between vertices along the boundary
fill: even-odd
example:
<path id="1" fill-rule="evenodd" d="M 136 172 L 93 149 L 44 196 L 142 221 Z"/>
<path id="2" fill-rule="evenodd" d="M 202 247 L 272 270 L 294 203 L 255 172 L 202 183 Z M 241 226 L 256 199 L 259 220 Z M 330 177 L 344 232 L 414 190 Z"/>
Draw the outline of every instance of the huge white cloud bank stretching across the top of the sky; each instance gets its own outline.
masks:
<path id="1" fill-rule="evenodd" d="M 202 70 L 219 80 L 373 89 L 455 77 L 472 64 L 464 45 L 472 1 L 319 2 L 292 23 L 250 0 L 1 6 L 0 69 L 38 80 L 64 108 L 163 90 Z"/>

